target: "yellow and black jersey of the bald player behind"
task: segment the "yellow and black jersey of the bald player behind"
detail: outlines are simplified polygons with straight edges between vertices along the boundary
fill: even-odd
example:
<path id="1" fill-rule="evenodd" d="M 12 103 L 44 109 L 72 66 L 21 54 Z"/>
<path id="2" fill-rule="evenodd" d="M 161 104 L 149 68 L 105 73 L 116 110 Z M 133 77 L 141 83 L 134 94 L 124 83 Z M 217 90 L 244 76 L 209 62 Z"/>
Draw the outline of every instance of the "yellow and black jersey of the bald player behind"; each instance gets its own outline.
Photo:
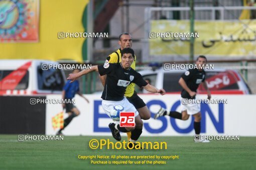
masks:
<path id="1" fill-rule="evenodd" d="M 113 53 L 111 53 L 110 55 L 108 55 L 108 57 L 106 58 L 108 60 L 109 63 L 117 63 L 117 62 L 121 62 L 121 48 L 117 49 L 116 51 L 114 51 Z M 132 63 L 131 67 L 135 70 L 136 67 L 136 55 L 134 58 L 134 62 Z M 126 97 L 131 97 L 134 94 L 134 86 L 135 83 L 131 83 L 130 85 L 127 86 L 126 91 L 124 93 L 124 96 Z"/>

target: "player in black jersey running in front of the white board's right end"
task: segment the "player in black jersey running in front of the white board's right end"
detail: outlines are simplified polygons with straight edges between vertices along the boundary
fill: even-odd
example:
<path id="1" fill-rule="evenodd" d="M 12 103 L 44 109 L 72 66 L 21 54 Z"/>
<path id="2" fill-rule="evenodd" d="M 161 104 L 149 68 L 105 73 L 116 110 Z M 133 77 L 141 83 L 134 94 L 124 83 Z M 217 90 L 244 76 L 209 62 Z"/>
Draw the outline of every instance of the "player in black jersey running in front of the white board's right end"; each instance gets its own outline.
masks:
<path id="1" fill-rule="evenodd" d="M 203 68 L 207 59 L 204 55 L 199 55 L 196 59 L 197 68 Z M 179 79 L 179 84 L 182 86 L 181 97 L 182 100 L 195 99 L 196 90 L 199 84 L 202 82 L 204 88 L 207 90 L 208 99 L 211 98 L 210 90 L 208 89 L 207 83 L 205 82 L 205 71 L 203 69 L 189 69 L 185 73 L 181 75 Z M 168 112 L 164 108 L 161 108 L 157 114 L 155 114 L 155 119 L 160 116 L 169 115 L 173 118 L 178 118 L 181 120 L 187 120 L 189 115 L 194 116 L 194 129 L 197 135 L 200 134 L 201 131 L 201 112 L 200 112 L 200 103 L 182 103 L 182 112 L 170 111 Z M 202 142 L 209 142 L 209 140 L 204 140 Z"/>

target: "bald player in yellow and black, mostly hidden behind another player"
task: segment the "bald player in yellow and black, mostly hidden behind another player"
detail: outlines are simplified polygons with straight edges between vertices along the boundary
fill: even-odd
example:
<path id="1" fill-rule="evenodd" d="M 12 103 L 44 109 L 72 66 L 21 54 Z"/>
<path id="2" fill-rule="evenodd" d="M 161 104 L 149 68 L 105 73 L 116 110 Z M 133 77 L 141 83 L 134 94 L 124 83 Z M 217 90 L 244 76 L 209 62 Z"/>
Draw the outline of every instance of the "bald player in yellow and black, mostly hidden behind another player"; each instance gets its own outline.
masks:
<path id="1" fill-rule="evenodd" d="M 108 62 L 108 63 L 121 62 L 121 56 L 122 56 L 121 51 L 122 51 L 122 49 L 126 48 L 126 47 L 132 48 L 132 46 L 133 46 L 132 35 L 129 34 L 129 33 L 121 33 L 119 35 L 118 44 L 120 45 L 120 48 L 117 49 L 116 51 L 112 52 L 106 58 L 106 62 Z M 135 66 L 136 66 L 136 55 L 134 55 L 134 61 L 131 65 L 131 67 L 135 70 Z M 101 82 L 104 86 L 105 85 L 105 80 L 106 80 L 106 75 L 100 76 L 100 80 L 101 80 Z M 147 107 L 146 103 L 139 97 L 139 95 L 135 91 L 134 86 L 135 86 L 134 83 L 129 84 L 129 86 L 127 86 L 127 88 L 126 88 L 124 96 L 129 100 L 129 102 L 131 102 L 135 106 L 135 108 L 138 110 L 141 118 L 144 119 L 144 120 L 148 120 L 151 117 L 151 112 L 150 112 L 149 108 Z M 135 132 L 136 131 L 127 132 L 128 140 L 130 140 L 131 135 L 135 135 L 135 134 L 133 134 Z"/>

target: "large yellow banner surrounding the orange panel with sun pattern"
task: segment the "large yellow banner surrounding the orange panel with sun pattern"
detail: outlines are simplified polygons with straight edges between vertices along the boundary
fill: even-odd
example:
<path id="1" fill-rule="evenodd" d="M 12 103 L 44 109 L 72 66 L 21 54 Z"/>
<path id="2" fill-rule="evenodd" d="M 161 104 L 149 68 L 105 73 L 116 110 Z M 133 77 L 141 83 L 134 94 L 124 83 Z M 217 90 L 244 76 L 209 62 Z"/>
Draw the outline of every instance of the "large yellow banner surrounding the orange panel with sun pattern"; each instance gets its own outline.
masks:
<path id="1" fill-rule="evenodd" d="M 82 62 L 85 38 L 61 39 L 58 32 L 84 32 L 82 16 L 88 2 L 40 0 L 38 42 L 0 42 L 0 59 L 73 59 Z"/>

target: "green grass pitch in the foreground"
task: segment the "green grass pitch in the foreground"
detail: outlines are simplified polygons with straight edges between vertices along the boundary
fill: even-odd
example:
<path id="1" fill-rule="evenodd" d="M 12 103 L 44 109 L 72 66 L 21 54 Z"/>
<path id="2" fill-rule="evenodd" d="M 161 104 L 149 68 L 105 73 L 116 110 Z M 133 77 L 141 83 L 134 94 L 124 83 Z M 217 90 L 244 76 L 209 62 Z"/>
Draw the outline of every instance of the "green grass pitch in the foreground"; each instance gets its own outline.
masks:
<path id="1" fill-rule="evenodd" d="M 22 142 L 17 138 L 18 135 L 0 135 L 0 169 L 256 169 L 256 137 L 209 143 L 195 143 L 192 136 L 140 138 L 140 141 L 166 141 L 167 149 L 162 150 L 91 149 L 88 146 L 89 140 L 93 138 L 109 138 L 115 142 L 111 136 L 64 136 L 64 140 Z M 122 138 L 126 139 L 126 136 L 122 135 Z M 78 159 L 79 154 L 176 154 L 179 159 L 166 160 L 166 164 L 155 165 L 91 164 L 88 159 Z"/>

